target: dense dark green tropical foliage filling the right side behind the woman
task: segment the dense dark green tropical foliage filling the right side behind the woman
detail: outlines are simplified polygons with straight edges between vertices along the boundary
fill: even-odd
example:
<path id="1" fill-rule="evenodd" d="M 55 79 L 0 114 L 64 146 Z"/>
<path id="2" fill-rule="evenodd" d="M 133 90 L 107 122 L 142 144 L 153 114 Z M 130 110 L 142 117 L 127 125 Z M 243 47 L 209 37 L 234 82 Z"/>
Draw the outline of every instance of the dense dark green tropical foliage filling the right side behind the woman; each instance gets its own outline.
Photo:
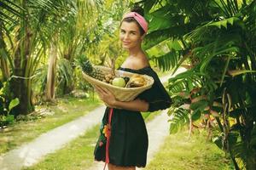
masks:
<path id="1" fill-rule="evenodd" d="M 163 70 L 186 66 L 169 80 L 171 132 L 203 120 L 218 125 L 214 142 L 236 169 L 256 167 L 256 1 L 139 1 L 150 21 L 144 48 Z M 150 54 L 150 53 L 148 53 Z M 188 65 L 189 64 L 189 65 Z"/>

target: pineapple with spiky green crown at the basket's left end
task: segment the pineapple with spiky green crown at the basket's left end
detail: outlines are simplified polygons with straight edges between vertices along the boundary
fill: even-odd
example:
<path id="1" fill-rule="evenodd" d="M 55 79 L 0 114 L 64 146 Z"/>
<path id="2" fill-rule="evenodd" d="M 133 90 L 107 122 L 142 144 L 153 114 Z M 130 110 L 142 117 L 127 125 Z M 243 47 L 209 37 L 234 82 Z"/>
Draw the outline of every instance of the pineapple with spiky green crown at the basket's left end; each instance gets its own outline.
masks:
<path id="1" fill-rule="evenodd" d="M 78 65 L 82 71 L 90 77 L 94 77 L 100 81 L 105 77 L 104 73 L 100 69 L 94 68 L 93 65 L 91 65 L 90 60 L 86 58 L 85 55 L 80 55 L 79 58 L 76 59 L 76 65 Z"/>

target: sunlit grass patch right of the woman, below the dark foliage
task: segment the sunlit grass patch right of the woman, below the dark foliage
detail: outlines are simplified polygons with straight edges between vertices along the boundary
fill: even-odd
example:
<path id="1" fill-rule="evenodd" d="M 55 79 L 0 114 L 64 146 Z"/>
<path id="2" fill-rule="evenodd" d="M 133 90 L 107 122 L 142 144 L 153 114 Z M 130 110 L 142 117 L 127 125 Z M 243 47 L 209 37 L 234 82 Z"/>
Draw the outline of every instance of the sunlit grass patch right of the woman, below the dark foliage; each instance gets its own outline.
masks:
<path id="1" fill-rule="evenodd" d="M 150 161 L 146 170 L 230 170 L 230 160 L 215 144 L 207 141 L 207 134 L 187 132 L 171 134 Z"/>

